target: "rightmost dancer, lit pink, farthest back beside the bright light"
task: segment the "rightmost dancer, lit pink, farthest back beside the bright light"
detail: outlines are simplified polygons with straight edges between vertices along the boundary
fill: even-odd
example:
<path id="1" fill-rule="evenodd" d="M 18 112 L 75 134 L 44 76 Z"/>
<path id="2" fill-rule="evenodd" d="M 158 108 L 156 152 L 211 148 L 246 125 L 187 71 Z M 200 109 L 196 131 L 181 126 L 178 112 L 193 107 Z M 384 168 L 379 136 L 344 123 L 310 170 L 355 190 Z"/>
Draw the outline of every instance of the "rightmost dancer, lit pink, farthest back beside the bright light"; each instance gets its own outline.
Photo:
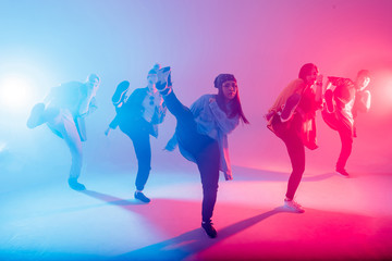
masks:
<path id="1" fill-rule="evenodd" d="M 370 109 L 370 91 L 366 87 L 370 83 L 369 71 L 360 70 L 355 82 L 348 78 L 328 77 L 326 84 L 326 107 L 322 110 L 324 122 L 338 130 L 342 149 L 336 162 L 336 173 L 348 177 L 346 162 L 353 149 L 353 137 L 356 137 L 355 119 L 357 112 Z M 334 88 L 333 88 L 334 87 Z"/>

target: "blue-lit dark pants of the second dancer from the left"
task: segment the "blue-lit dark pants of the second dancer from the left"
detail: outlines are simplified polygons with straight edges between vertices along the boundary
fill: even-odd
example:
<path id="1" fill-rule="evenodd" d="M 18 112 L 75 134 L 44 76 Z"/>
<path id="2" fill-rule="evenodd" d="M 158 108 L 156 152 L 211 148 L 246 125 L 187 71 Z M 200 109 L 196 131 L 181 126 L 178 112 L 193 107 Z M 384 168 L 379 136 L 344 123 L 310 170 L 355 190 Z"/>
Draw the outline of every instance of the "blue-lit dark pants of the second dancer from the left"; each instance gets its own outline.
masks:
<path id="1" fill-rule="evenodd" d="M 146 123 L 147 124 L 147 123 Z M 133 142 L 137 159 L 136 189 L 143 190 L 151 170 L 151 145 L 149 133 L 143 125 L 138 124 L 120 125 L 121 130 L 128 136 Z"/>

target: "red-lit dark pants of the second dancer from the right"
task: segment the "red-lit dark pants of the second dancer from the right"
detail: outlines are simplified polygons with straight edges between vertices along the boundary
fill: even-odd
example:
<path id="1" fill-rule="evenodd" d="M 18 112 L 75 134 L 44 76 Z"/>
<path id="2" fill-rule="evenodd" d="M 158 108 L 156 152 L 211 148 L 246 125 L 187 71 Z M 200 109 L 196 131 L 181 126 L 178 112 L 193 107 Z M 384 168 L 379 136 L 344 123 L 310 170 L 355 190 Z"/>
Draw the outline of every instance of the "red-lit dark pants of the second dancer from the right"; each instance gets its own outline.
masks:
<path id="1" fill-rule="evenodd" d="M 274 133 L 285 144 L 289 157 L 292 164 L 292 173 L 289 178 L 286 197 L 293 199 L 299 186 L 302 176 L 305 172 L 305 147 L 302 138 L 298 135 L 301 129 L 302 119 L 295 114 L 290 122 L 282 123 L 279 115 L 275 115 L 272 121 Z"/>

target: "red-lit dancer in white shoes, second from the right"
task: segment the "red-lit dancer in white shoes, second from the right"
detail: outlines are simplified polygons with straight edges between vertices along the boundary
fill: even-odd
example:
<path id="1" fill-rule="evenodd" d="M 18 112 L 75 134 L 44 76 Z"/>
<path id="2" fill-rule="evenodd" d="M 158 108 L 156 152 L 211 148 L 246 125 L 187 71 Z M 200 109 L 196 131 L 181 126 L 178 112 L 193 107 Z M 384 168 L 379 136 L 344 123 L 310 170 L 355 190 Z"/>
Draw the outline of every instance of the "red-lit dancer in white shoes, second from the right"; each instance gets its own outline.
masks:
<path id="1" fill-rule="evenodd" d="M 316 90 L 313 85 L 316 83 Z M 316 149 L 316 111 L 321 105 L 322 76 L 313 63 L 301 67 L 297 79 L 291 82 L 278 96 L 266 119 L 270 128 L 287 148 L 293 171 L 289 178 L 284 199 L 285 208 L 303 213 L 305 210 L 294 201 L 305 171 L 305 147 Z"/>

